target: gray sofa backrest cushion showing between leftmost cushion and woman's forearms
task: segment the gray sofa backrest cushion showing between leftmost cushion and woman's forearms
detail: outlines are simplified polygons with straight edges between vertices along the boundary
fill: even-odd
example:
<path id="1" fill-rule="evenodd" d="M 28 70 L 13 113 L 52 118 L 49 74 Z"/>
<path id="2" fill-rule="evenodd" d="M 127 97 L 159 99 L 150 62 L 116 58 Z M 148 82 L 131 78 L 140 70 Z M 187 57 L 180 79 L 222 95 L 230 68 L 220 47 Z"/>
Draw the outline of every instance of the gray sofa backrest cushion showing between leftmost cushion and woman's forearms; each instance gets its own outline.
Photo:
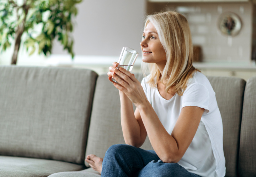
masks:
<path id="1" fill-rule="evenodd" d="M 135 74 L 135 77 L 140 82 L 142 81 L 142 74 Z M 108 80 L 107 75 L 100 75 L 97 79 L 92 104 L 89 137 L 85 155 L 96 154 L 104 158 L 107 149 L 111 145 L 124 143 L 120 119 L 119 91 Z M 153 149 L 148 138 L 141 148 Z M 85 162 L 85 165 L 89 167 L 87 162 Z"/>

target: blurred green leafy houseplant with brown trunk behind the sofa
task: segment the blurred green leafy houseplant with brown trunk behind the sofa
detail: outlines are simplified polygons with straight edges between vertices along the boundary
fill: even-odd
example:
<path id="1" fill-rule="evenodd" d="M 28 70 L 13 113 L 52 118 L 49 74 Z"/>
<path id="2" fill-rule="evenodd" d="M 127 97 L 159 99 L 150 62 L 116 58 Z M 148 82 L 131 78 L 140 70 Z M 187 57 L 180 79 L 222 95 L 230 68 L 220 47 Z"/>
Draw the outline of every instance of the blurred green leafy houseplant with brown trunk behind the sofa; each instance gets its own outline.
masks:
<path id="1" fill-rule="evenodd" d="M 17 63 L 21 43 L 32 55 L 48 55 L 57 38 L 74 57 L 72 19 L 82 0 L 0 0 L 0 51 L 14 42 L 11 64 Z"/>

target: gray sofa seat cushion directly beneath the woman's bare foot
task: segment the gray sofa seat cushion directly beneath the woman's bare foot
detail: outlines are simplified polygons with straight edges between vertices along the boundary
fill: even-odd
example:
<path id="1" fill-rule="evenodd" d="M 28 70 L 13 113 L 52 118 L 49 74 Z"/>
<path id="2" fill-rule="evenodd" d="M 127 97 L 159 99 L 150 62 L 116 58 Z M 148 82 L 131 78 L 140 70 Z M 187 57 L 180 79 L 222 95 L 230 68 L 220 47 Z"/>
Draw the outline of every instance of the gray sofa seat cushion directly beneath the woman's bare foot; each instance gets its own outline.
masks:
<path id="1" fill-rule="evenodd" d="M 100 173 L 89 168 L 82 171 L 54 173 L 49 177 L 100 177 Z"/>

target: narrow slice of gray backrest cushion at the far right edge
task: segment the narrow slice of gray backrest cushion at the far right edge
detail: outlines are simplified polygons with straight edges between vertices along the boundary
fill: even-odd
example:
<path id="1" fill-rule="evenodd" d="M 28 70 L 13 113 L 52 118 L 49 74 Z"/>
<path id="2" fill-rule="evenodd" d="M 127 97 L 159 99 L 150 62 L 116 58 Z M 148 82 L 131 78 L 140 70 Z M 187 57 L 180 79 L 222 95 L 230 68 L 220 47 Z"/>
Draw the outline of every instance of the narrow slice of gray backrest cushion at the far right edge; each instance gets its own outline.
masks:
<path id="1" fill-rule="evenodd" d="M 256 176 L 256 77 L 246 82 L 239 150 L 240 177 Z"/>

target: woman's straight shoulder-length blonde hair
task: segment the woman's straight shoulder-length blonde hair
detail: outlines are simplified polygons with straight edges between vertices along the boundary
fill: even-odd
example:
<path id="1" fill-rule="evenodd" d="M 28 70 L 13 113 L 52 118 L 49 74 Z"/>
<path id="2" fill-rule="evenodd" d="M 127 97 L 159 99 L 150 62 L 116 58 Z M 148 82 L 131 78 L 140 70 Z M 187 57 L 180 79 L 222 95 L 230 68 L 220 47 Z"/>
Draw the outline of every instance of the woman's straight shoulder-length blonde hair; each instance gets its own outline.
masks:
<path id="1" fill-rule="evenodd" d="M 166 11 L 147 16 L 145 27 L 149 22 L 156 28 L 166 53 L 162 76 L 155 63 L 147 63 L 146 67 L 150 72 L 149 85 L 157 87 L 161 76 L 160 81 L 165 83 L 165 91 L 168 92 L 172 87 L 181 96 L 187 88 L 188 79 L 195 71 L 199 71 L 192 65 L 193 45 L 187 19 L 178 12 Z M 142 68 L 145 74 L 145 65 Z"/>

